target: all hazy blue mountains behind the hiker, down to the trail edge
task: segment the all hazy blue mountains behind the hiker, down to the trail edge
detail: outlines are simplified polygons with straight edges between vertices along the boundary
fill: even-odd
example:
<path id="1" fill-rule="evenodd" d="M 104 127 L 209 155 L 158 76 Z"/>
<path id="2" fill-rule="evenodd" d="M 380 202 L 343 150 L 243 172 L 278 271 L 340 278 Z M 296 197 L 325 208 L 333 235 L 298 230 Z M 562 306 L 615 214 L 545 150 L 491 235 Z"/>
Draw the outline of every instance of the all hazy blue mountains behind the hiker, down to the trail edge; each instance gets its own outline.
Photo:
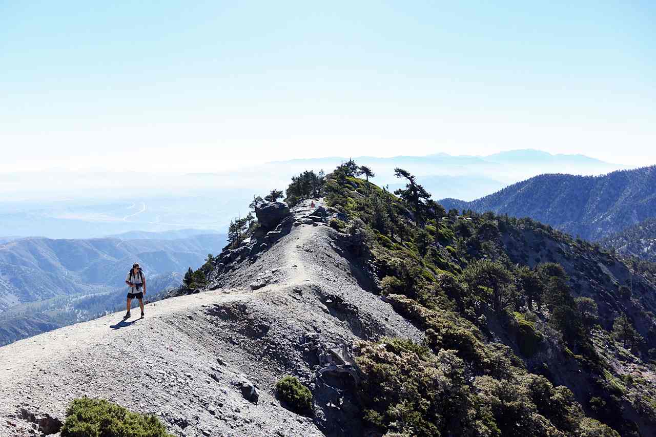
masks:
<path id="1" fill-rule="evenodd" d="M 125 308 L 134 261 L 146 273 L 146 299 L 160 299 L 225 245 L 225 234 L 193 229 L 0 244 L 0 345 Z"/>

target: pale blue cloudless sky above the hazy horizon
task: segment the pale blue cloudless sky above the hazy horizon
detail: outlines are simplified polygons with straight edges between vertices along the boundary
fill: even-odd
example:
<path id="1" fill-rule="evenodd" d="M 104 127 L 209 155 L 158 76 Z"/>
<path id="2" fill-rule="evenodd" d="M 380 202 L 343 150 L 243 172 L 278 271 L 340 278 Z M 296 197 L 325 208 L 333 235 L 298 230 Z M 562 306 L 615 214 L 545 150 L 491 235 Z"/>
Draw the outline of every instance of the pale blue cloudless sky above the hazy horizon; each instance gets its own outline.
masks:
<path id="1" fill-rule="evenodd" d="M 648 1 L 0 2 L 0 171 L 516 148 L 654 164 L 655 20 Z"/>

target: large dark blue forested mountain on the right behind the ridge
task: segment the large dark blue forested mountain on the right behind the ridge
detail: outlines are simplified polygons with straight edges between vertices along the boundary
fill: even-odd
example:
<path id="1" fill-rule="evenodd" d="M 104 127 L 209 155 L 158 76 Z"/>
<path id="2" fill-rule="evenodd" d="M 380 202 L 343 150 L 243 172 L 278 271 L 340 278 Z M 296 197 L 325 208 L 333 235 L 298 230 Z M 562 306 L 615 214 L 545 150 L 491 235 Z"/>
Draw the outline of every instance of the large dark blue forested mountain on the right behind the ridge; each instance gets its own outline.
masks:
<path id="1" fill-rule="evenodd" d="M 656 166 L 607 175 L 539 175 L 489 196 L 442 199 L 446 208 L 531 217 L 574 236 L 597 240 L 656 217 Z"/>

